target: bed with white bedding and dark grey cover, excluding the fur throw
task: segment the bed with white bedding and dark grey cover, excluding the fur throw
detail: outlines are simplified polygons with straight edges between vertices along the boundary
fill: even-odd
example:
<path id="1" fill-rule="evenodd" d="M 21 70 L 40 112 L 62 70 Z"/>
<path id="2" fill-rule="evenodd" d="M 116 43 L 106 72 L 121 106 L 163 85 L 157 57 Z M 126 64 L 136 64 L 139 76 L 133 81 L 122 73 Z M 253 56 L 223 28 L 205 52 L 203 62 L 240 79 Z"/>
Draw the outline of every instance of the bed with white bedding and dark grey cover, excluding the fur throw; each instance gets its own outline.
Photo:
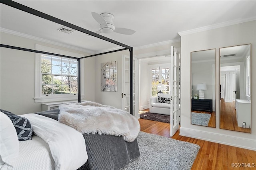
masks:
<path id="1" fill-rule="evenodd" d="M 77 104 L 80 105 L 80 103 Z M 69 108 L 72 107 L 69 106 Z M 98 133 L 82 134 L 58 121 L 60 109 L 19 116 L 5 110 L 0 111 L 1 157 L 3 158 L 1 169 L 118 170 L 126 166 L 130 160 L 140 156 L 137 139 L 128 142 L 122 136 L 99 135 Z M 131 116 L 129 113 L 126 114 Z M 8 116 L 7 118 L 6 115 Z M 21 118 L 24 121 L 20 124 L 15 124 L 17 119 Z M 17 133 L 13 129 L 24 125 L 25 119 L 31 124 L 31 131 L 33 131 L 34 135 L 31 135 L 31 140 L 18 141 L 17 134 L 19 132 L 17 128 L 15 128 Z M 8 123 L 8 121 L 11 124 L 9 126 L 12 126 L 12 135 L 15 133 L 12 139 L 7 137 L 10 135 L 10 129 L 3 127 L 3 122 Z M 29 127 L 25 128 L 28 133 L 31 133 Z M 6 135 L 4 130 L 8 131 Z M 25 131 L 25 133 L 27 132 Z M 2 139 L 6 141 L 2 141 Z M 20 139 L 24 139 L 24 136 L 20 137 Z M 18 144 L 10 143 L 10 146 L 3 146 L 3 143 L 9 143 L 10 141 L 18 141 Z M 9 156 L 11 155 L 10 160 L 6 159 L 8 155 L 5 155 L 4 148 L 6 150 L 13 148 L 16 150 L 16 156 L 13 156 L 12 153 L 6 153 Z"/>

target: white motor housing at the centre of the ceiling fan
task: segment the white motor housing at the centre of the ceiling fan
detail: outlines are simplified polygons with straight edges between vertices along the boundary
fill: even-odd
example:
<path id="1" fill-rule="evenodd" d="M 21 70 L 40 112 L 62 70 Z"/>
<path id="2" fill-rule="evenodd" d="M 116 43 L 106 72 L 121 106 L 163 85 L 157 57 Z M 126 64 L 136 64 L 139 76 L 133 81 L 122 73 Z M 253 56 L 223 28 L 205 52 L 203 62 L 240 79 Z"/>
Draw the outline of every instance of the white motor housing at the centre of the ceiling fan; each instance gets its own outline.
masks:
<path id="1" fill-rule="evenodd" d="M 107 25 L 100 24 L 100 31 L 103 33 L 112 33 L 115 30 L 115 25 L 113 23 L 114 16 L 110 13 L 102 13 L 100 15 L 107 22 Z"/>

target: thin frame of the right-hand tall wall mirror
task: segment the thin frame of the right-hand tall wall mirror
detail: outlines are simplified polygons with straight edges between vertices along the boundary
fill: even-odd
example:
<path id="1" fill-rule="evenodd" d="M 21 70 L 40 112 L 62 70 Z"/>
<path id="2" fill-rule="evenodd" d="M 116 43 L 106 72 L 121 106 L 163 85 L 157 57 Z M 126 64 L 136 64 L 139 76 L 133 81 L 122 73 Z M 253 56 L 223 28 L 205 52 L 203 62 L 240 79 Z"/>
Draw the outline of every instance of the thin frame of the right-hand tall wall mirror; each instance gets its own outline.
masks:
<path id="1" fill-rule="evenodd" d="M 250 77 L 252 76 L 252 44 L 241 44 L 241 45 L 233 45 L 233 46 L 228 46 L 228 47 L 237 47 L 237 46 L 242 46 L 242 45 L 250 45 Z M 221 49 L 224 49 L 224 48 L 228 48 L 228 47 L 221 47 L 221 48 L 219 48 L 219 84 L 217 84 L 217 86 L 218 86 L 218 88 L 217 88 L 217 90 L 218 90 L 218 92 L 220 92 L 220 74 L 221 74 L 221 72 L 220 72 L 220 67 L 221 67 L 221 62 L 220 62 L 220 59 L 221 59 L 221 55 L 220 55 L 220 50 Z M 251 86 L 251 83 L 252 82 L 252 80 L 251 80 L 251 78 L 250 78 L 250 92 L 252 92 L 252 86 Z M 219 115 L 220 115 L 220 111 L 221 111 L 221 104 L 220 104 L 220 100 L 221 100 L 221 95 L 219 94 L 219 98 L 218 98 L 218 100 L 219 100 Z M 250 132 L 246 132 L 246 131 L 236 131 L 236 130 L 232 130 L 232 129 L 224 129 L 224 130 L 229 130 L 229 131 L 236 131 L 236 132 L 242 132 L 242 133 L 252 133 L 252 98 L 251 98 L 251 94 L 250 94 L 250 102 L 251 102 L 251 104 L 250 104 L 250 111 L 251 111 L 251 113 L 250 113 L 250 125 L 251 125 L 251 127 L 250 127 Z M 220 116 L 219 116 L 219 124 L 220 124 Z M 220 129 L 223 129 L 223 128 L 221 128 L 220 127 L 220 125 L 219 125 L 219 128 Z"/>

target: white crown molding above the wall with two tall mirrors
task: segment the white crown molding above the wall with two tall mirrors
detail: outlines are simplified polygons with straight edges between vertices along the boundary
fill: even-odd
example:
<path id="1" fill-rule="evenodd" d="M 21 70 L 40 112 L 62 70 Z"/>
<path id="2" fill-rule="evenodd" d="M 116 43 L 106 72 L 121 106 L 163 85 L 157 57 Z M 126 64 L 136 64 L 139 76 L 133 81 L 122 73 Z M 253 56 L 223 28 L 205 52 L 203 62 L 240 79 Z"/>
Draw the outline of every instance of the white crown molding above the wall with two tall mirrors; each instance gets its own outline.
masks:
<path id="1" fill-rule="evenodd" d="M 187 30 L 187 31 L 181 31 L 181 32 L 178 32 L 178 34 L 180 36 L 189 35 L 189 34 L 192 34 L 192 33 L 208 31 L 210 29 L 226 27 L 226 26 L 235 25 L 235 24 L 238 24 L 238 23 L 243 23 L 243 22 L 248 22 L 248 21 L 253 21 L 253 20 L 256 20 L 256 17 L 247 18 L 247 19 L 244 19 L 244 20 L 238 19 L 238 20 L 232 20 L 232 21 L 227 21 L 227 22 L 221 22 L 221 23 L 217 23 L 217 24 L 214 24 L 214 25 L 208 25 L 208 26 L 205 26 L 205 27 L 199 27 L 199 28 L 196 28 L 196 29 L 190 29 L 190 30 Z"/>

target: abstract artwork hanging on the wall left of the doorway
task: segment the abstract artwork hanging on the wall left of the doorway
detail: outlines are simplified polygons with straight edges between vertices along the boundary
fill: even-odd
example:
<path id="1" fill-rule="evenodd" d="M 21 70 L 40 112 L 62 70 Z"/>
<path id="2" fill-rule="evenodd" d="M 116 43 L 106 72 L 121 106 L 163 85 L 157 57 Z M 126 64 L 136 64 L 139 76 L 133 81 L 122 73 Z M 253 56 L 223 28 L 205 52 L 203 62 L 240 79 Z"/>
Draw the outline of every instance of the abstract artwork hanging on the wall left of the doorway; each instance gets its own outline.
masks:
<path id="1" fill-rule="evenodd" d="M 101 63 L 101 91 L 117 92 L 117 61 Z"/>

